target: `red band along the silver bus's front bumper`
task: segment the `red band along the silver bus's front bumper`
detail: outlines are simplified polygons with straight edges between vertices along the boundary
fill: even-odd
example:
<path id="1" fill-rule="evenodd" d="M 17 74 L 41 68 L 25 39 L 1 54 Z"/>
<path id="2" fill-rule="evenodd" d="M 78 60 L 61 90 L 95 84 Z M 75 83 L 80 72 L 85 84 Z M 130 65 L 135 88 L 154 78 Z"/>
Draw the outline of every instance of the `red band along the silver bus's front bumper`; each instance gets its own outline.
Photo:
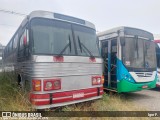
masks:
<path id="1" fill-rule="evenodd" d="M 99 91 L 100 95 L 102 95 L 103 87 L 101 87 L 99 90 L 100 90 Z M 76 96 L 74 98 L 73 96 L 77 94 L 80 94 L 82 96 L 78 96 L 78 97 Z M 89 88 L 89 89 L 83 89 L 83 90 L 53 93 L 52 103 L 55 104 L 55 103 L 63 103 L 63 102 L 87 99 L 87 98 L 95 97 L 97 95 L 98 95 L 97 88 Z M 49 94 L 31 94 L 30 97 L 31 97 L 31 103 L 34 105 L 49 105 L 50 104 Z"/>

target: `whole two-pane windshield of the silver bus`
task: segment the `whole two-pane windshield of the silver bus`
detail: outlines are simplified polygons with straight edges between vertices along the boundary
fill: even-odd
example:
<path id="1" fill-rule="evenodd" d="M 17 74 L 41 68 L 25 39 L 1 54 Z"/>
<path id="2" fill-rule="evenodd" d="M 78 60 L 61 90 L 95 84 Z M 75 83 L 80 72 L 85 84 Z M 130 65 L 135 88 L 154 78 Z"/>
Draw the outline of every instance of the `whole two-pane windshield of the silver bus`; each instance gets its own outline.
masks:
<path id="1" fill-rule="evenodd" d="M 67 22 L 33 19 L 31 21 L 33 38 L 33 53 L 42 55 L 80 55 L 99 56 L 94 29 Z M 79 44 L 74 41 L 81 41 L 82 51 L 79 52 Z M 77 42 L 76 42 L 77 43 Z M 83 47 L 86 47 L 84 49 Z M 77 49 L 77 54 L 76 50 Z"/>

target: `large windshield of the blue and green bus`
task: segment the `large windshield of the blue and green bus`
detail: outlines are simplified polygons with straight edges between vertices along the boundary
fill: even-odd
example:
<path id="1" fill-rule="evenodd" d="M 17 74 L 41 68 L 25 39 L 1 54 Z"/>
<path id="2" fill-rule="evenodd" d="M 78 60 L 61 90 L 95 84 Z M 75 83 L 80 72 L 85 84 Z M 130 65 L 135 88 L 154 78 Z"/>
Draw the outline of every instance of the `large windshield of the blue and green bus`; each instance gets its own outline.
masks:
<path id="1" fill-rule="evenodd" d="M 155 44 L 141 38 L 125 38 L 123 63 L 129 70 L 156 69 Z"/>

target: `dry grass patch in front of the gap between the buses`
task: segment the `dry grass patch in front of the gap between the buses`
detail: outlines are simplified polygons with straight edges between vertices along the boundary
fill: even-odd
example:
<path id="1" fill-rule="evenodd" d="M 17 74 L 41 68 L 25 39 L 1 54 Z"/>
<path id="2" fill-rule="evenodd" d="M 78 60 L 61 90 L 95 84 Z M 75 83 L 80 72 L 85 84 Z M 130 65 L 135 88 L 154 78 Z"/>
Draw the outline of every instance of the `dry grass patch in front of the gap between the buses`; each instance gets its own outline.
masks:
<path id="1" fill-rule="evenodd" d="M 118 94 L 104 94 L 102 99 L 63 107 L 64 111 L 146 111 Z"/>

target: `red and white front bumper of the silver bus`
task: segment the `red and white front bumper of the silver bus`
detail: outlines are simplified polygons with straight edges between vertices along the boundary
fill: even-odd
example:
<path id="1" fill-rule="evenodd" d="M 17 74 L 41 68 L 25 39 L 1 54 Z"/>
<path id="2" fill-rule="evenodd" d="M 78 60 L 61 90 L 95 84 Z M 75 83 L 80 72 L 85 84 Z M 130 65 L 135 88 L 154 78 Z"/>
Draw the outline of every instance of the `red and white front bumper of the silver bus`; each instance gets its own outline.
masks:
<path id="1" fill-rule="evenodd" d="M 60 107 L 69 104 L 101 98 L 103 87 L 47 94 L 30 94 L 30 101 L 35 109 Z"/>

